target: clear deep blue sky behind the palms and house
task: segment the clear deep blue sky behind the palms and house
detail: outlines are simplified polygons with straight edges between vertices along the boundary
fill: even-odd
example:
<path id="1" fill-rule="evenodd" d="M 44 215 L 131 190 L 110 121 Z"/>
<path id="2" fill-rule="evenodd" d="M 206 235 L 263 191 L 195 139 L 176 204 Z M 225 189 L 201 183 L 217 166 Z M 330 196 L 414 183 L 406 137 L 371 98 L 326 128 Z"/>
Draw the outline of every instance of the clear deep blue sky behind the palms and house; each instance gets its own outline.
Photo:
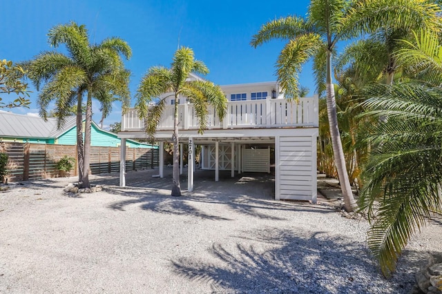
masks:
<path id="1" fill-rule="evenodd" d="M 288 15 L 305 16 L 309 1 L 211 1 L 211 0 L 0 0 L 0 59 L 14 62 L 33 59 L 51 48 L 48 31 L 75 21 L 88 29 L 90 42 L 108 37 L 128 42 L 133 56 L 125 62 L 131 70 L 131 96 L 151 66 L 169 67 L 177 46 L 187 46 L 206 63 L 206 79 L 218 85 L 276 81 L 275 62 L 284 46 L 271 41 L 258 48 L 249 45 L 262 24 Z M 311 63 L 300 75 L 300 84 L 314 93 Z M 30 108 L 12 108 L 19 114 L 38 115 L 38 92 L 30 87 Z M 10 101 L 13 96 L 2 97 Z M 132 99 L 132 106 L 135 99 Z M 99 122 L 99 104 L 93 104 Z M 104 128 L 121 121 L 121 105 L 104 120 Z"/>

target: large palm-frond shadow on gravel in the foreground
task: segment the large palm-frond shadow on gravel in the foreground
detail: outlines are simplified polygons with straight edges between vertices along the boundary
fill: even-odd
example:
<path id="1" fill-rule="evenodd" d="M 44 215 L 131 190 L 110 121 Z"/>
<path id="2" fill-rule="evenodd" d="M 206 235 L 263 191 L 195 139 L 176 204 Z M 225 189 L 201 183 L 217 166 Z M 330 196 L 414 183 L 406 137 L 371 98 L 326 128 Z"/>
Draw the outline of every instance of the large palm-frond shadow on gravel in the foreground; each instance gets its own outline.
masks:
<path id="1" fill-rule="evenodd" d="M 244 232 L 241 238 L 265 242 L 271 248 L 262 251 L 241 243 L 234 247 L 214 244 L 208 252 L 215 263 L 184 257 L 171 261 L 173 271 L 189 280 L 210 283 L 215 293 L 408 293 L 417 270 L 398 273 L 408 281 L 403 284 L 394 277 L 385 280 L 364 244 L 349 244 L 343 237 L 322 232 L 269 228 Z"/>

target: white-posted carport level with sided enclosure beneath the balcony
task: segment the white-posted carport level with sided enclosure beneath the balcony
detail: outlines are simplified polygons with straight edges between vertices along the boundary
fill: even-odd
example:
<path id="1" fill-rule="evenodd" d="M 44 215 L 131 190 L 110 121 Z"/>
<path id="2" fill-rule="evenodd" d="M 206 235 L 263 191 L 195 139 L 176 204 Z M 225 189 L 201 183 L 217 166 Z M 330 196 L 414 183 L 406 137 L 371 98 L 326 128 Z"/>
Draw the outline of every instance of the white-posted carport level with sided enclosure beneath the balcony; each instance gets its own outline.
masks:
<path id="1" fill-rule="evenodd" d="M 155 140 L 160 142 L 160 150 L 164 150 L 164 142 L 171 141 L 171 131 L 158 131 Z M 257 167 L 257 172 L 265 166 L 270 173 L 270 150 L 274 148 L 275 166 L 275 199 L 298 199 L 316 202 L 316 128 L 249 128 L 230 130 L 206 130 L 199 134 L 197 130 L 180 130 L 180 151 L 183 144 L 189 147 L 187 172 L 187 190 L 195 188 L 195 146 L 202 146 L 202 156 L 198 168 L 213 170 L 213 181 L 220 181 L 220 172 L 229 170 L 230 176 L 244 173 L 246 166 Z M 120 156 L 124 158 L 126 139 L 145 137 L 141 131 L 118 133 L 122 139 Z M 267 161 L 260 162 L 265 155 L 256 158 L 247 157 L 246 146 L 267 146 Z M 231 152 L 233 150 L 233 152 Z M 211 153 L 210 156 L 207 153 Z M 160 152 L 159 177 L 164 177 L 164 153 Z M 256 160 L 254 160 L 256 159 Z M 259 160 L 258 160 L 259 159 Z M 180 173 L 183 174 L 184 164 L 180 162 Z M 250 164 L 251 161 L 253 164 Z M 122 161 L 123 162 L 123 161 Z M 126 186 L 126 166 L 120 166 L 119 186 Z"/>

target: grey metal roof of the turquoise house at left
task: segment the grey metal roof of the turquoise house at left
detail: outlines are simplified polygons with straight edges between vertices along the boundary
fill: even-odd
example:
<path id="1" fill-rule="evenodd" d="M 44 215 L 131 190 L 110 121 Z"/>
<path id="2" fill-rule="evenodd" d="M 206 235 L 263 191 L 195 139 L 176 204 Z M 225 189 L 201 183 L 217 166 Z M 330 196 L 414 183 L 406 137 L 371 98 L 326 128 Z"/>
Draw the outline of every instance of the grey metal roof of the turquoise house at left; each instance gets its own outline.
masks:
<path id="1" fill-rule="evenodd" d="M 53 138 L 75 126 L 75 116 L 67 117 L 64 126 L 57 130 L 57 119 L 17 115 L 0 110 L 0 137 Z"/>

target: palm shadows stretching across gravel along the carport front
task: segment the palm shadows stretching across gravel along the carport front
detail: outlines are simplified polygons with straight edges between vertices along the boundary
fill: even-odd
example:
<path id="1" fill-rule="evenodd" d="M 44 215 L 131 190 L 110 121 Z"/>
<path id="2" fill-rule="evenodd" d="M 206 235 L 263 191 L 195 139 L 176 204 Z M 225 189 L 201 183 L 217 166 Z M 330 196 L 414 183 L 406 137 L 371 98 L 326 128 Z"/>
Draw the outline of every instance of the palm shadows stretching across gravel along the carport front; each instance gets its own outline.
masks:
<path id="1" fill-rule="evenodd" d="M 169 183 L 170 184 L 170 183 Z M 235 184 L 234 182 L 232 184 Z M 245 185 L 253 187 L 251 195 L 243 195 L 240 192 L 251 188 L 246 188 Z M 182 197 L 171 197 L 169 190 L 162 190 L 161 186 L 155 188 L 139 188 L 139 187 L 107 187 L 106 192 L 114 195 L 119 195 L 127 199 L 115 202 L 108 206 L 114 210 L 124 211 L 126 206 L 138 204 L 143 210 L 152 211 L 154 213 L 166 213 L 172 215 L 191 215 L 203 219 L 213 220 L 229 220 L 226 217 L 210 215 L 196 208 L 198 203 L 218 204 L 225 206 L 225 208 L 218 210 L 230 210 L 233 213 L 240 213 L 259 219 L 270 220 L 284 220 L 285 218 L 278 216 L 279 211 L 308 211 L 316 213 L 334 213 L 332 208 L 321 208 L 320 206 L 309 206 L 307 204 L 297 204 L 294 202 L 277 202 L 271 200 L 270 197 L 262 196 L 262 190 L 269 186 L 267 182 L 253 182 L 249 181 L 243 184 L 238 190 L 233 190 L 233 193 L 226 194 L 222 191 L 225 187 L 224 183 L 204 183 L 200 182 L 198 188 L 195 188 L 195 193 L 183 193 Z M 160 192 L 160 190 L 162 190 Z M 253 190 L 256 193 L 253 193 Z M 164 195 L 164 192 L 167 194 Z M 255 197 L 254 195 L 258 195 Z M 261 195 L 262 197 L 259 197 Z M 198 207 L 201 207 L 198 205 Z"/>

